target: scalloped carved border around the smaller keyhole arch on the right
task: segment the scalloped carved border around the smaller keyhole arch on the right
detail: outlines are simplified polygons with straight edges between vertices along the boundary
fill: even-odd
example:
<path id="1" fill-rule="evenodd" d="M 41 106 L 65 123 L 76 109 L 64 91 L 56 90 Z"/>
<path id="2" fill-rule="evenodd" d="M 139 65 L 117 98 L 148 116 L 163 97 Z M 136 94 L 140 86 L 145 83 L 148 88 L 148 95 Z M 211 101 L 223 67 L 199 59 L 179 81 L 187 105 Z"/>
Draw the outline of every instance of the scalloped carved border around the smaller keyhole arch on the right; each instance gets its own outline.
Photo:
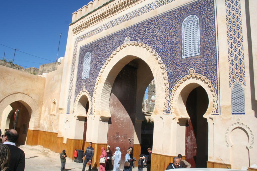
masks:
<path id="1" fill-rule="evenodd" d="M 212 82 L 206 77 L 203 76 L 201 74 L 198 74 L 195 72 L 194 68 L 190 68 L 188 69 L 188 74 L 185 75 L 184 77 L 182 77 L 176 84 L 175 86 L 172 88 L 171 90 L 171 95 L 170 95 L 170 110 L 171 113 L 174 112 L 173 110 L 173 99 L 174 99 L 174 95 L 178 89 L 178 87 L 185 82 L 188 79 L 198 79 L 201 82 L 203 82 L 205 85 L 208 86 L 210 92 L 212 92 L 212 98 L 213 98 L 213 109 L 212 109 L 212 114 L 217 113 L 217 108 L 218 108 L 218 95 L 216 93 L 216 90 L 214 88 L 214 85 L 212 84 Z"/>

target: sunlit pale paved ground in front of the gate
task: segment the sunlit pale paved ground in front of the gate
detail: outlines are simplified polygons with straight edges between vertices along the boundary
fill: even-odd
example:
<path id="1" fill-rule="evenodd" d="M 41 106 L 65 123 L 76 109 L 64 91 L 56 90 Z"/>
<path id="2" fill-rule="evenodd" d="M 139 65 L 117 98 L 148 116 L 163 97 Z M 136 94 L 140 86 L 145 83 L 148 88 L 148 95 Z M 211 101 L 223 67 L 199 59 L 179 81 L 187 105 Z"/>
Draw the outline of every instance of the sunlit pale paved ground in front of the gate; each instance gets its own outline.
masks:
<path id="1" fill-rule="evenodd" d="M 60 170 L 61 162 L 59 153 L 52 152 L 49 149 L 43 148 L 42 146 L 29 146 L 22 145 L 20 148 L 24 151 L 25 160 L 25 170 L 26 171 L 38 171 L 38 170 Z M 65 170 L 78 171 L 82 170 L 82 163 L 75 163 L 70 158 L 66 158 Z M 99 168 L 98 168 L 99 169 Z M 88 170 L 88 166 L 86 167 Z M 136 171 L 134 168 L 133 171 Z M 147 169 L 144 168 L 143 171 Z"/>

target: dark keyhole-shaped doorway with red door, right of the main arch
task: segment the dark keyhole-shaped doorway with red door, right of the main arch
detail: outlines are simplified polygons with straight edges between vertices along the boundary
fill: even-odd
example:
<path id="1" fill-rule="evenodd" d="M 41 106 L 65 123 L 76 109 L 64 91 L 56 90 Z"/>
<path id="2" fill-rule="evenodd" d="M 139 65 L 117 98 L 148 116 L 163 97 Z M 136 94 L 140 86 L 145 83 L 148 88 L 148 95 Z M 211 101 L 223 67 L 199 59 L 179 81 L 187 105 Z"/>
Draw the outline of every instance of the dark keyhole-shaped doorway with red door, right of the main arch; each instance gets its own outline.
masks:
<path id="1" fill-rule="evenodd" d="M 207 165 L 208 123 L 203 115 L 208 108 L 208 103 L 208 95 L 201 86 L 194 88 L 186 100 L 186 110 L 190 119 L 186 123 L 185 155 L 192 167 L 206 167 Z"/>

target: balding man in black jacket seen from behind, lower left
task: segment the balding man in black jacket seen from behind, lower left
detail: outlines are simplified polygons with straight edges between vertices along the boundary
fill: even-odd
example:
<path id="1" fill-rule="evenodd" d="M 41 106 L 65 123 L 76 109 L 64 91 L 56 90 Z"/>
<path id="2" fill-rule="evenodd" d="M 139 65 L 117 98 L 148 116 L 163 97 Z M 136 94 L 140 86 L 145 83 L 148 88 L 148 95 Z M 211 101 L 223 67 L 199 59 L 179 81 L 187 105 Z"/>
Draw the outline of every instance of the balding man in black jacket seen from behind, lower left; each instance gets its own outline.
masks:
<path id="1" fill-rule="evenodd" d="M 15 142 L 18 139 L 19 134 L 14 129 L 8 129 L 5 135 L 2 135 L 2 142 L 5 144 L 11 152 L 10 166 L 11 171 L 24 171 L 25 168 L 25 154 L 16 147 Z"/>

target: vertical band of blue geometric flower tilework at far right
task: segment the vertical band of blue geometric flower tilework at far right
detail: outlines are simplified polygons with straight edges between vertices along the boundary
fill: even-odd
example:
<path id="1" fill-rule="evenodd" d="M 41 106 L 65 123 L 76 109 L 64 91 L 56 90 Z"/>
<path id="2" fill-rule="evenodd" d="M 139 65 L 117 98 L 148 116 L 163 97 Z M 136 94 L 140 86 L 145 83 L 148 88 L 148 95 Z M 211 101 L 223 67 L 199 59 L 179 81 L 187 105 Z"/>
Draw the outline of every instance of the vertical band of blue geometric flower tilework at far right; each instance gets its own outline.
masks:
<path id="1" fill-rule="evenodd" d="M 229 86 L 236 81 L 245 86 L 244 47 L 240 0 L 226 0 Z"/>

